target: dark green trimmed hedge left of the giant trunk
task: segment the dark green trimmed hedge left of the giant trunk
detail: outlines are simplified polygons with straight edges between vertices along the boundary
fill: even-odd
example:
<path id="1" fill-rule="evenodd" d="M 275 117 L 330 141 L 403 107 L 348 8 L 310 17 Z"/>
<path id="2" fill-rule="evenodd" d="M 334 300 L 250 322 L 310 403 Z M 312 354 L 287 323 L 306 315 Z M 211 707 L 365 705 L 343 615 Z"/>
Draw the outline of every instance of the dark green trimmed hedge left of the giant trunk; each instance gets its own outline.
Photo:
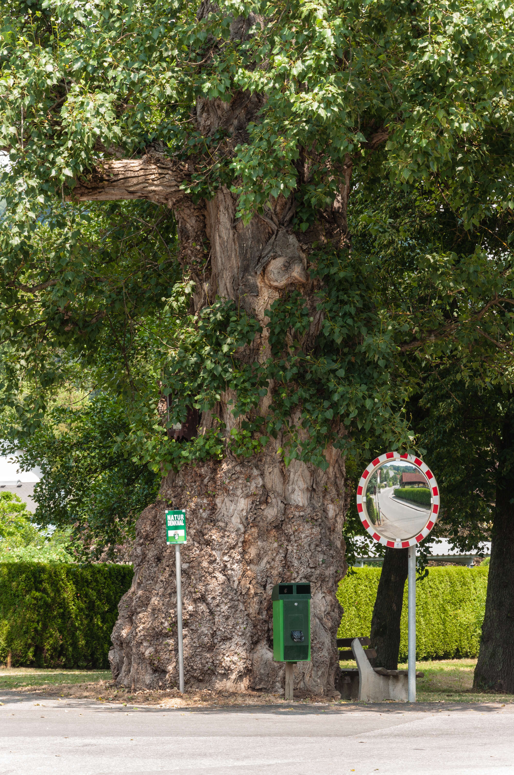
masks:
<path id="1" fill-rule="evenodd" d="M 0 662 L 108 667 L 131 565 L 0 563 Z"/>

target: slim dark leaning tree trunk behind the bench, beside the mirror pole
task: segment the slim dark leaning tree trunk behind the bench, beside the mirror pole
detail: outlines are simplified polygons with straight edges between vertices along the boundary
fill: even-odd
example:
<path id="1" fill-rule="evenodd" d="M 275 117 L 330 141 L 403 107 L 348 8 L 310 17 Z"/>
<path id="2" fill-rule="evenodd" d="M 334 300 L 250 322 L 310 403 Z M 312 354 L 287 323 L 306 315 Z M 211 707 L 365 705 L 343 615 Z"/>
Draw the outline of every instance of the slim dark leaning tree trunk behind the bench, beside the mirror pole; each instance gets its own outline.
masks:
<path id="1" fill-rule="evenodd" d="M 398 668 L 399 622 L 407 578 L 408 549 L 386 549 L 372 616 L 370 639 L 376 651 L 374 667 Z"/>

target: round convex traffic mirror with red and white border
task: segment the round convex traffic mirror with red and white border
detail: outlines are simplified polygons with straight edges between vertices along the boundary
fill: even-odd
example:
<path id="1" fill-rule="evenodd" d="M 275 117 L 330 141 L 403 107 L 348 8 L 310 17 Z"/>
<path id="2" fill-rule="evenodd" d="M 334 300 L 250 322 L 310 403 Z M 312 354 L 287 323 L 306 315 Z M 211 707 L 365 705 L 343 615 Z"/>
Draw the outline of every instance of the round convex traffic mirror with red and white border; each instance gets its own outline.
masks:
<path id="1" fill-rule="evenodd" d="M 357 509 L 365 529 L 378 543 L 396 549 L 414 546 L 437 521 L 437 481 L 419 457 L 385 453 L 362 474 Z"/>

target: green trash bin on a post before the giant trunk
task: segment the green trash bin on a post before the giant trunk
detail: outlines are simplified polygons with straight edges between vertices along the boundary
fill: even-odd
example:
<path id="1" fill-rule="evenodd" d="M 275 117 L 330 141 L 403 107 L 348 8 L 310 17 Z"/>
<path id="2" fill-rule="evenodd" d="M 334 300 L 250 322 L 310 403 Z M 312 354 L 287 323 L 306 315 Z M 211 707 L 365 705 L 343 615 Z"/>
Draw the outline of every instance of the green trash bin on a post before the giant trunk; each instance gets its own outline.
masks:
<path id="1" fill-rule="evenodd" d="M 310 662 L 310 584 L 275 584 L 273 660 Z"/>

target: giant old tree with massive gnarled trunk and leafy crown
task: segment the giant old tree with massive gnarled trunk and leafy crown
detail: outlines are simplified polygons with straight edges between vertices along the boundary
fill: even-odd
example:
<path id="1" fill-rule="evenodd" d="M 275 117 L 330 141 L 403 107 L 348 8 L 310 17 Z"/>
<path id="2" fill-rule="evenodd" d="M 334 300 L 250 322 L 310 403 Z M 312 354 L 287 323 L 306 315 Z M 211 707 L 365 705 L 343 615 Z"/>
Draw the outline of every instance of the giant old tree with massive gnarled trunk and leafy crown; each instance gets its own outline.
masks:
<path id="1" fill-rule="evenodd" d="M 423 186 L 464 229 L 512 206 L 508 16 L 475 2 L 208 0 L 11 0 L 2 14 L 2 341 L 26 363 L 5 394 L 30 432 L 56 348 L 85 358 L 111 337 L 124 368 L 111 363 L 105 388 L 127 397 L 135 456 L 163 474 L 137 525 L 115 676 L 176 680 L 173 505 L 190 520 L 187 682 L 276 685 L 269 591 L 308 578 L 313 662 L 298 680 L 330 692 L 345 461 L 366 436 L 409 443 L 398 353 L 451 342 L 472 358 L 511 330 L 481 249 L 418 253 L 407 273 L 358 253 L 352 192 L 373 177 Z M 152 267 L 146 246 L 122 242 L 99 260 L 84 223 L 115 232 L 111 203 L 135 223 L 140 200 L 146 222 L 168 213 L 176 246 L 165 237 Z M 471 305 L 454 306 L 456 278 L 480 288 Z M 192 409 L 184 449 L 169 431 Z"/>

